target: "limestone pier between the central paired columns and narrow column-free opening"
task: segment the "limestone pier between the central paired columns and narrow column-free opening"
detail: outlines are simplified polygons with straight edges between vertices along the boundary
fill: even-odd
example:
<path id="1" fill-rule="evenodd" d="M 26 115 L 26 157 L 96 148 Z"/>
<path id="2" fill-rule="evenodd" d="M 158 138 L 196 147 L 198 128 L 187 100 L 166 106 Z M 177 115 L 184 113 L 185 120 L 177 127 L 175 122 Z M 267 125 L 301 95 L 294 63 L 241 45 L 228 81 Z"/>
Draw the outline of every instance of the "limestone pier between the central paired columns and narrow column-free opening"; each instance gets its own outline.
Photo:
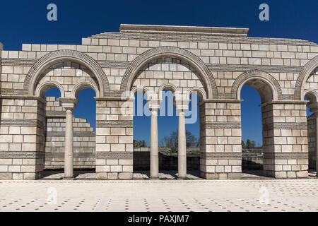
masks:
<path id="1" fill-rule="evenodd" d="M 237 179 L 242 172 L 240 102 L 200 106 L 201 177 Z"/>

